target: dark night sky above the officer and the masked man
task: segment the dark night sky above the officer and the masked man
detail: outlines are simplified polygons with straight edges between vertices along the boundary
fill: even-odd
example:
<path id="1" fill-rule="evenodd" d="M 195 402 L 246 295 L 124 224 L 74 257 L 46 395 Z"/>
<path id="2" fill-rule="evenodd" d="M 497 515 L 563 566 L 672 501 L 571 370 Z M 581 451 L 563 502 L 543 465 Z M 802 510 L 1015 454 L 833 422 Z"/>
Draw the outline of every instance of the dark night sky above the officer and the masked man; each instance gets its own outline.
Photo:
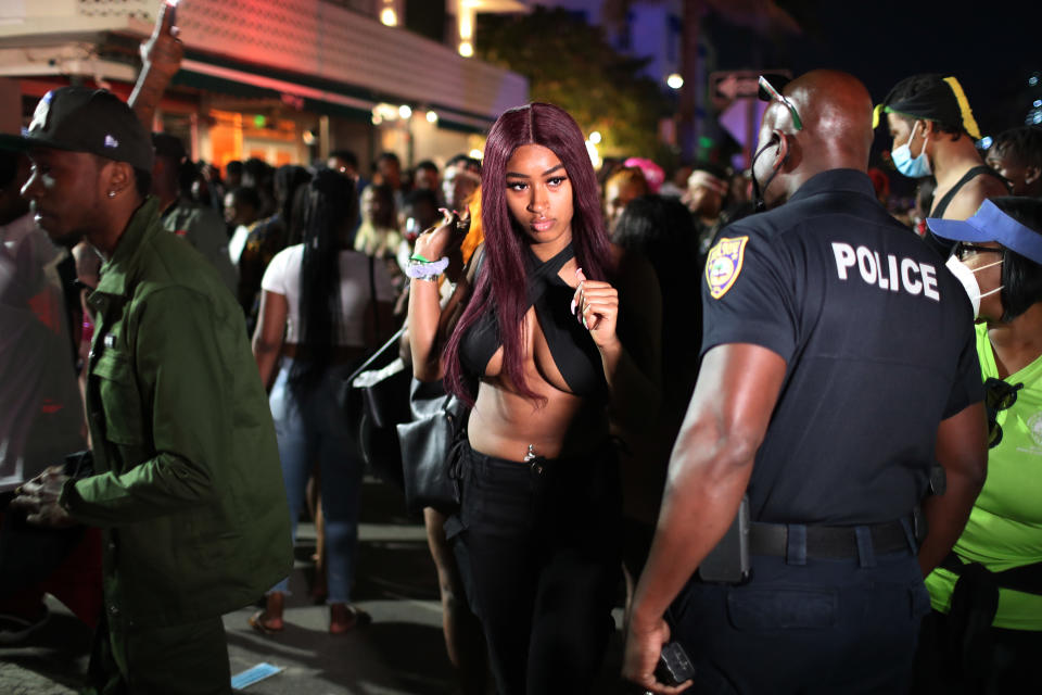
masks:
<path id="1" fill-rule="evenodd" d="M 844 70 L 867 85 L 876 102 L 908 75 L 955 75 L 982 132 L 993 135 L 1022 125 L 1031 101 L 1042 99 L 1042 86 L 1029 93 L 1027 84 L 1032 72 L 1042 71 L 1040 0 L 777 0 L 777 4 L 804 33 L 773 45 L 759 41 L 764 67 L 788 67 L 797 75 L 815 67 Z M 728 48 L 720 38 L 720 67 L 754 66 L 748 54 L 735 50 L 740 43 L 728 41 Z"/>

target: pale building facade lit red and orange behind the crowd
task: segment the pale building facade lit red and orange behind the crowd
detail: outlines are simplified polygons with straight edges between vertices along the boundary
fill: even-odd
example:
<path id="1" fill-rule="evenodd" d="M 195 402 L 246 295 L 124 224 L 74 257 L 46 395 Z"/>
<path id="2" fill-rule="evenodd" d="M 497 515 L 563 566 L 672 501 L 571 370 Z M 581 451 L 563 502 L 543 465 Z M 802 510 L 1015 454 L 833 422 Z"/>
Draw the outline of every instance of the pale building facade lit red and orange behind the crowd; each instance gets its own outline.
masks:
<path id="1" fill-rule="evenodd" d="M 129 96 L 157 7 L 0 3 L 0 127 L 24 125 L 65 84 Z M 383 151 L 406 166 L 443 163 L 480 150 L 498 114 L 528 101 L 523 77 L 469 56 L 475 13 L 525 10 L 518 0 L 183 0 L 185 61 L 156 129 L 218 165 L 307 164 L 341 148 L 363 166 Z"/>

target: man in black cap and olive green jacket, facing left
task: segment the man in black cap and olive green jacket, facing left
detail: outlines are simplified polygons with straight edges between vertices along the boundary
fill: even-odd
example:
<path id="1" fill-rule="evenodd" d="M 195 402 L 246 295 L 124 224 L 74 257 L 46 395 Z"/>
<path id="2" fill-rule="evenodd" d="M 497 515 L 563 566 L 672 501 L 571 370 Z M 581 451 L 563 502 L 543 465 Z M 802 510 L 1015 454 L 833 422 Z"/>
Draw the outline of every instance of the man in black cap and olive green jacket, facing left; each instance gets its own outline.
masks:
<path id="1" fill-rule="evenodd" d="M 87 417 L 93 475 L 52 468 L 14 505 L 30 522 L 104 529 L 101 693 L 228 693 L 220 616 L 292 568 L 267 397 L 242 311 L 213 267 L 165 231 L 152 144 L 104 90 L 55 89 L 25 136 L 23 189 L 55 241 L 104 258 Z"/>

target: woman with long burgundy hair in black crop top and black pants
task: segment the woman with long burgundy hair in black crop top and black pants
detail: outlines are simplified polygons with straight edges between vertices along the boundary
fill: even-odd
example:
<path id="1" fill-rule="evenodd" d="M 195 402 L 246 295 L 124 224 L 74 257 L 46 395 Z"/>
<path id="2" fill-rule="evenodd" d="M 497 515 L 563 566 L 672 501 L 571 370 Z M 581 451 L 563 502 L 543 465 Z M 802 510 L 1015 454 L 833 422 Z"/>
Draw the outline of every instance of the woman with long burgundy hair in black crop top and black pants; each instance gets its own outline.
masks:
<path id="1" fill-rule="evenodd" d="M 463 307 L 452 330 L 457 312 L 429 280 L 461 226 L 422 235 L 409 268 L 414 374 L 473 406 L 445 529 L 499 692 L 588 692 L 620 569 L 610 434 L 658 412 L 658 285 L 610 243 L 582 131 L 557 106 L 512 109 L 492 127 L 481 211 L 481 267 L 447 305 Z"/>

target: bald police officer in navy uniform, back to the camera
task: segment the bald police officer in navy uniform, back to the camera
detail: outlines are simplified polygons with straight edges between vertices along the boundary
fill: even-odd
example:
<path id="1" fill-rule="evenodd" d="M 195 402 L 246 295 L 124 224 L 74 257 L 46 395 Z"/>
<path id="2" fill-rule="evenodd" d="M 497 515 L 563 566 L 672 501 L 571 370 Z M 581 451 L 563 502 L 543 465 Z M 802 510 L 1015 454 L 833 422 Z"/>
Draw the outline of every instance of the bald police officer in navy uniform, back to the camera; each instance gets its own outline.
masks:
<path id="1" fill-rule="evenodd" d="M 816 71 L 784 94 L 761 85 L 772 103 L 753 174 L 776 208 L 734 223 L 710 250 L 702 368 L 624 675 L 648 692 L 683 690 L 653 674 L 672 637 L 696 667 L 694 692 L 903 692 L 929 609 L 923 574 L 984 477 L 970 307 L 875 198 L 861 83 Z M 948 490 L 926 504 L 917 548 L 913 510 L 935 458 Z M 736 552 L 737 582 L 703 581 L 695 571 L 707 573 L 744 495 L 751 571 Z"/>

